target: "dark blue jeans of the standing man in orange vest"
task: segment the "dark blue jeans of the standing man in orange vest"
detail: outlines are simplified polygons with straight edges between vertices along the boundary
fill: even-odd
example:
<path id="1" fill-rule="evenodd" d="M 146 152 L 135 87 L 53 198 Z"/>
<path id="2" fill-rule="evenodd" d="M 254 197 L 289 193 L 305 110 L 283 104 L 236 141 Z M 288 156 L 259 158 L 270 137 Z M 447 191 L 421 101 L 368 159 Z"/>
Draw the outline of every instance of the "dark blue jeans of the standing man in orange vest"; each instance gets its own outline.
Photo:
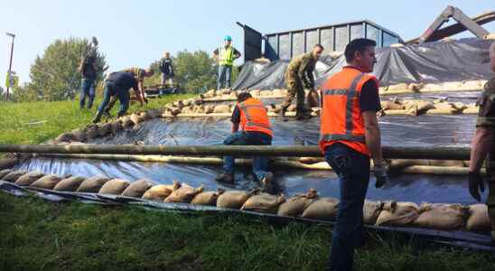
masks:
<path id="1" fill-rule="evenodd" d="M 369 156 L 336 143 L 325 150 L 325 159 L 339 175 L 341 202 L 333 228 L 331 270 L 352 270 L 354 248 L 363 238 L 363 206 L 369 183 Z"/>

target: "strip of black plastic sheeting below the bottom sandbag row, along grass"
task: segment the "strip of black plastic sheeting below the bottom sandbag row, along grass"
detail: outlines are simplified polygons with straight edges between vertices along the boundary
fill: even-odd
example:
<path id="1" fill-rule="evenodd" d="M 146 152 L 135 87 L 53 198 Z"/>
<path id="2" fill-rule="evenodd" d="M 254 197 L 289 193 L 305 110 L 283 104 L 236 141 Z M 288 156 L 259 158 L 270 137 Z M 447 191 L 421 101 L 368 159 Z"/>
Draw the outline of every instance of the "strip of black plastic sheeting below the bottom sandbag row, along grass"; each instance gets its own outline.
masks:
<path id="1" fill-rule="evenodd" d="M 7 192 L 18 197 L 34 194 L 47 201 L 80 201 L 90 204 L 104 205 L 121 205 L 121 204 L 136 204 L 145 208 L 154 208 L 158 210 L 180 211 L 192 214 L 200 213 L 229 213 L 229 214 L 245 214 L 266 219 L 271 224 L 285 225 L 289 222 L 297 221 L 306 224 L 326 224 L 333 225 L 332 221 L 311 220 L 295 217 L 282 217 L 273 214 L 259 213 L 246 210 L 222 209 L 212 206 L 199 206 L 187 203 L 170 203 L 146 201 L 142 199 L 128 198 L 115 195 L 81 193 L 81 192 L 55 192 L 45 189 L 36 189 L 31 187 L 21 187 L 11 182 L 0 181 L 0 192 Z M 495 247 L 491 246 L 490 236 L 482 233 L 467 232 L 462 230 L 435 230 L 435 229 L 420 229 L 420 228 L 395 228 L 395 227 L 377 227 L 365 225 L 368 230 L 376 232 L 395 231 L 407 234 L 415 238 L 423 238 L 434 241 L 438 244 L 449 245 L 461 248 L 470 248 L 475 250 L 495 251 Z"/>

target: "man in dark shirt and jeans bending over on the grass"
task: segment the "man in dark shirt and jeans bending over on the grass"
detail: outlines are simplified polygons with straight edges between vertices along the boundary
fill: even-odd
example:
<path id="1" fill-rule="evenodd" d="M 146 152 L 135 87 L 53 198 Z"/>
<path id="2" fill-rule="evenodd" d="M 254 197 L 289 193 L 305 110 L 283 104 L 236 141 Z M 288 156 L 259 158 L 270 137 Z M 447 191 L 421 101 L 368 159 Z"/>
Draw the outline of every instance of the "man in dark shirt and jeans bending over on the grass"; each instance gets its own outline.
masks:
<path id="1" fill-rule="evenodd" d="M 103 96 L 103 101 L 98 107 L 98 112 L 95 118 L 93 118 L 93 123 L 98 123 L 101 115 L 103 114 L 105 108 L 110 102 L 112 96 L 116 96 L 120 102 L 120 107 L 118 110 L 118 117 L 122 117 L 126 114 L 127 108 L 129 107 L 129 89 L 134 89 L 136 96 L 140 98 L 140 102 L 143 103 L 143 98 L 138 95 L 139 88 L 137 79 L 130 72 L 117 71 L 113 72 L 108 76 L 105 81 L 105 92 Z"/>

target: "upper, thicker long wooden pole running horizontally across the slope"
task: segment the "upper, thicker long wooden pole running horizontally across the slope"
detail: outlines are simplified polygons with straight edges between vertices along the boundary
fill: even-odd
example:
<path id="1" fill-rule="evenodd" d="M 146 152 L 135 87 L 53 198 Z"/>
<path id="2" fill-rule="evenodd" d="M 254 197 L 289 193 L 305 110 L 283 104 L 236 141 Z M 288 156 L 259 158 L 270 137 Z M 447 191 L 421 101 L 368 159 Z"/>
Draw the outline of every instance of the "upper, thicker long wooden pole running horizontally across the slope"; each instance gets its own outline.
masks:
<path id="1" fill-rule="evenodd" d="M 322 156 L 315 145 L 0 145 L 0 153 Z M 470 148 L 383 147 L 383 155 L 388 159 L 469 160 Z"/>

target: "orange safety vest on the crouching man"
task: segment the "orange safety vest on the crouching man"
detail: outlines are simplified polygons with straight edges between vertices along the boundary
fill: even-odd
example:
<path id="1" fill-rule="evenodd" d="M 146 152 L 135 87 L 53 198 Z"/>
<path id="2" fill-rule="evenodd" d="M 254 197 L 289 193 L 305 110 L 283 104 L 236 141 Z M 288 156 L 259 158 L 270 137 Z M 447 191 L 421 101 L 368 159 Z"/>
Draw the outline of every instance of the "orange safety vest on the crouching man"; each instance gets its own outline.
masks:
<path id="1" fill-rule="evenodd" d="M 248 98 L 238 103 L 240 127 L 243 131 L 262 132 L 273 136 L 266 107 L 257 98 Z"/>

